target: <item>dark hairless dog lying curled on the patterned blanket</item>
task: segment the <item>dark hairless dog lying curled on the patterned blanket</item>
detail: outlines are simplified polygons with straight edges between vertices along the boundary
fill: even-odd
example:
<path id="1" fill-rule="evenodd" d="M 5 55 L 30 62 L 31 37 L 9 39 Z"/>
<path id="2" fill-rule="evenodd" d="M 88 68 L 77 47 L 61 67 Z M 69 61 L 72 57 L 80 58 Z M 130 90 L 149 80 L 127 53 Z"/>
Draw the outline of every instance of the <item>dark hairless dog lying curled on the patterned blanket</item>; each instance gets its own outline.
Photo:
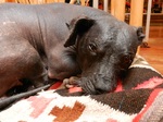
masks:
<path id="1" fill-rule="evenodd" d="M 40 87 L 79 73 L 73 84 L 85 93 L 110 91 L 143 37 L 142 28 L 92 8 L 0 4 L 0 96 L 24 78 Z"/>

